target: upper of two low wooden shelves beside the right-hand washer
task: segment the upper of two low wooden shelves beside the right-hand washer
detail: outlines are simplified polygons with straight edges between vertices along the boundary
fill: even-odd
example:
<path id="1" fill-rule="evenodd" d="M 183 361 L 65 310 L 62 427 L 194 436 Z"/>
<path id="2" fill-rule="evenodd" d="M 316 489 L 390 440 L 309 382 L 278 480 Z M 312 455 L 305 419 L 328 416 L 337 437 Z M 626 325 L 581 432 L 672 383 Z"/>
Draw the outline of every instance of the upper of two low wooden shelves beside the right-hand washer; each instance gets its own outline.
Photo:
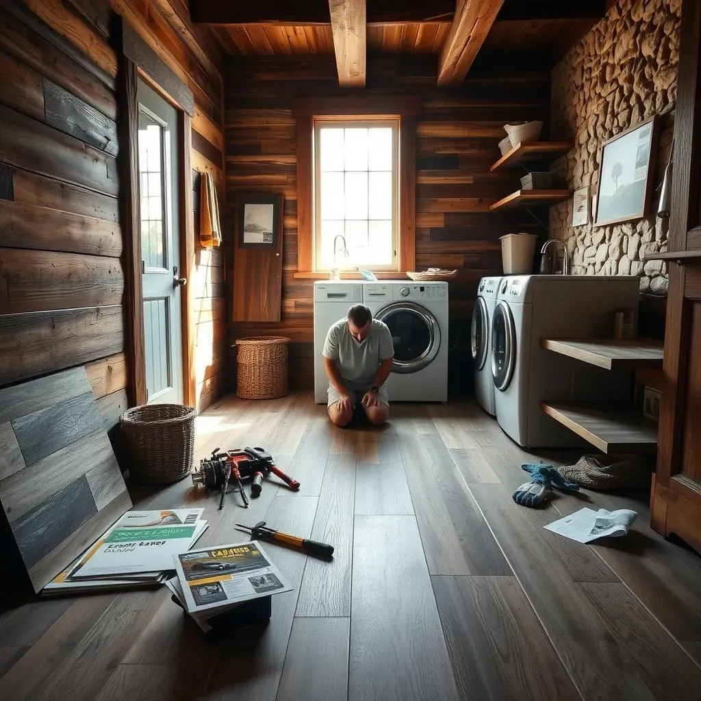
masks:
<path id="1" fill-rule="evenodd" d="M 665 344 L 654 339 L 543 339 L 543 348 L 605 370 L 662 367 Z"/>

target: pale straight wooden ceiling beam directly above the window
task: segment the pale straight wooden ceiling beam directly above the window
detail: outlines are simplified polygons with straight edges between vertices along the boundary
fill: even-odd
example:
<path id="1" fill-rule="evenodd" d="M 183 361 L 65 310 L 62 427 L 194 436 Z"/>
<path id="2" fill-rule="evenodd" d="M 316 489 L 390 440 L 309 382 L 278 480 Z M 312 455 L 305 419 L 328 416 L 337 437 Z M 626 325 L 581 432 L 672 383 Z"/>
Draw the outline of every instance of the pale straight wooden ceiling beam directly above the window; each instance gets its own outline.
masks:
<path id="1" fill-rule="evenodd" d="M 365 87 L 367 26 L 365 0 L 328 0 L 339 86 Z"/>

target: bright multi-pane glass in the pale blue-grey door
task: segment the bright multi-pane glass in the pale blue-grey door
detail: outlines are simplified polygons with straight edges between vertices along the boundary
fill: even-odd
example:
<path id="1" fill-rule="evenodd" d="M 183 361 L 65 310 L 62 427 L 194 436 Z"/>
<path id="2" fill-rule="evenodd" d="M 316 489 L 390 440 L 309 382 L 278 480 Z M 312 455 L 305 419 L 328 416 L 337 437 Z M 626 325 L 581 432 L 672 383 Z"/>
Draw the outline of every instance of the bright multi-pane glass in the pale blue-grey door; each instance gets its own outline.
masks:
<path id="1" fill-rule="evenodd" d="M 163 126 L 139 110 L 141 251 L 147 268 L 165 268 Z"/>

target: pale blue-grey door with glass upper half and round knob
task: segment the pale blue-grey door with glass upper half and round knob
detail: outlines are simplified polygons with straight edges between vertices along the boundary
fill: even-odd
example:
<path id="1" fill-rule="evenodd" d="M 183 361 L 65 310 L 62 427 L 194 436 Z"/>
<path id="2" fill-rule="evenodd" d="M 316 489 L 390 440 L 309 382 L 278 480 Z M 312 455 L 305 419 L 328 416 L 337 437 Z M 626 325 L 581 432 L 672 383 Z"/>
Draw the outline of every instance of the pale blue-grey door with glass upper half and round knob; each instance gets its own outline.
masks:
<path id="1" fill-rule="evenodd" d="M 147 401 L 180 404 L 177 111 L 139 81 L 139 221 Z"/>

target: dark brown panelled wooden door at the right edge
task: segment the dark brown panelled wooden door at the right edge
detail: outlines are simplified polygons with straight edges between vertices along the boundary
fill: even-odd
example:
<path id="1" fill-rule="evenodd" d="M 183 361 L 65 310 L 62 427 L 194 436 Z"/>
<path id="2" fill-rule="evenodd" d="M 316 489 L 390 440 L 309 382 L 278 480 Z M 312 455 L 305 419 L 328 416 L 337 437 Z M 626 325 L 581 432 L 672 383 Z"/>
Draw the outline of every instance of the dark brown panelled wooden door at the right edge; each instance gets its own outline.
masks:
<path id="1" fill-rule="evenodd" d="M 701 551 L 701 3 L 682 4 L 669 295 L 651 523 Z"/>

